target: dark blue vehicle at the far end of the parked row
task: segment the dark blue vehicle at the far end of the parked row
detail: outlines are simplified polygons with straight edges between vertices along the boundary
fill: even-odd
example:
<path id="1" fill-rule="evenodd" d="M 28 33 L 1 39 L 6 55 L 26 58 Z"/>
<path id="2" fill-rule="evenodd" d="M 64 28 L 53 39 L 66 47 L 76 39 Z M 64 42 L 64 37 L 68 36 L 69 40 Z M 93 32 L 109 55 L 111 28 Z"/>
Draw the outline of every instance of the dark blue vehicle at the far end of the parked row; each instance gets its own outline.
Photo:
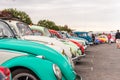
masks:
<path id="1" fill-rule="evenodd" d="M 93 44 L 92 38 L 91 38 L 91 36 L 88 35 L 88 32 L 76 31 L 76 32 L 74 32 L 74 34 L 76 34 L 77 37 L 86 39 L 89 42 L 89 44 Z"/>

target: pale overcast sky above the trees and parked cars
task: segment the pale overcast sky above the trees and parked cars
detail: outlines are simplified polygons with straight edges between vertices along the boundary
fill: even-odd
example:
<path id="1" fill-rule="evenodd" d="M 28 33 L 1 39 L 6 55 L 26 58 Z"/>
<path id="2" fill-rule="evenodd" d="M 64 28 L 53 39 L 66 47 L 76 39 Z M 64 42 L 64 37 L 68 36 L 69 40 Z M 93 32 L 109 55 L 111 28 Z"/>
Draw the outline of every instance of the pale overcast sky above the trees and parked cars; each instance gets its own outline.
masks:
<path id="1" fill-rule="evenodd" d="M 81 31 L 120 29 L 120 0 L 0 0 L 0 10 L 16 8 L 32 21 L 48 19 Z"/>

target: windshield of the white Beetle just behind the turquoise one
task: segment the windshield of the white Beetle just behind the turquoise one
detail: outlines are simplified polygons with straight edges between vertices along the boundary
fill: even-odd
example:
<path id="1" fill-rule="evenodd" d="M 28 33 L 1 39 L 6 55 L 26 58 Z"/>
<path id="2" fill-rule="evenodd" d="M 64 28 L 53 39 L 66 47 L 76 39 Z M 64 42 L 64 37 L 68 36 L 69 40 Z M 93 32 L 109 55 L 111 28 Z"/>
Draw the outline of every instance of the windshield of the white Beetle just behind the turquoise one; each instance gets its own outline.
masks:
<path id="1" fill-rule="evenodd" d="M 17 23 L 17 28 L 22 36 L 33 35 L 32 31 L 30 30 L 30 28 L 27 24 Z"/>

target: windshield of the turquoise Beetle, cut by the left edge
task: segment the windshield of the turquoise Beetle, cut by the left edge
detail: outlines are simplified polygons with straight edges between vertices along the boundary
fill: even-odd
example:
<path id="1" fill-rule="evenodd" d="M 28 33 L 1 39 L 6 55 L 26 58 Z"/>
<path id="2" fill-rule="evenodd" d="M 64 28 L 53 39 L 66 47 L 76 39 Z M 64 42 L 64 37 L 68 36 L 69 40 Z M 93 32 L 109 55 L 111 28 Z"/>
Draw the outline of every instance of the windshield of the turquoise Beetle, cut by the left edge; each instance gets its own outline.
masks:
<path id="1" fill-rule="evenodd" d="M 10 30 L 10 28 L 8 27 L 8 25 L 2 21 L 0 21 L 0 38 L 4 38 L 4 37 L 13 37 L 13 34 Z"/>

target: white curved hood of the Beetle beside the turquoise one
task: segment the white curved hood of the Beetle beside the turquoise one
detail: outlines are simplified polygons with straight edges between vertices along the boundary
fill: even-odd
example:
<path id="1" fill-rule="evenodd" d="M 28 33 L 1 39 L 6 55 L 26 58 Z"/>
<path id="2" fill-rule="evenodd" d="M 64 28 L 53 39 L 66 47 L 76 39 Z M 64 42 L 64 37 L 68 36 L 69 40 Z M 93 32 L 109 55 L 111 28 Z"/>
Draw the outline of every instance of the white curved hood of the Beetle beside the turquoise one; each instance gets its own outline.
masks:
<path id="1" fill-rule="evenodd" d="M 49 47 L 52 47 L 55 50 L 65 50 L 65 53 L 67 56 L 71 57 L 71 52 L 70 52 L 70 46 L 67 46 L 66 44 L 63 44 L 63 42 L 55 39 L 55 38 L 50 38 L 46 36 L 37 36 L 37 35 L 27 35 L 22 37 L 25 40 L 31 40 L 31 41 L 36 41 L 36 42 L 41 42 L 44 44 L 47 44 Z M 55 47 L 59 46 L 59 48 Z M 62 51 L 60 51 L 62 52 Z"/>

